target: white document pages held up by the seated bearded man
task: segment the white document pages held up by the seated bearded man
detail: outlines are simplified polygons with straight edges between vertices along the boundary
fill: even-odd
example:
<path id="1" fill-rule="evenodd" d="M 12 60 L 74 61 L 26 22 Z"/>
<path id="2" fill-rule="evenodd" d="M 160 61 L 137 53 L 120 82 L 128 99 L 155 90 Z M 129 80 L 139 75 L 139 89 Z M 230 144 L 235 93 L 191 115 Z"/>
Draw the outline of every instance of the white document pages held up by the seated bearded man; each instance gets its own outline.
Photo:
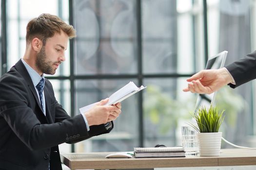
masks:
<path id="1" fill-rule="evenodd" d="M 144 89 L 146 87 L 144 87 L 143 85 L 141 85 L 140 87 L 138 87 L 137 85 L 135 85 L 133 82 L 129 82 L 127 85 L 123 86 L 122 88 L 120 88 L 118 91 L 116 91 L 115 93 L 113 93 L 110 97 L 109 97 L 109 101 L 107 104 L 105 105 L 112 105 L 112 104 L 116 104 L 118 102 L 123 101 L 124 99 L 132 96 L 133 94 L 137 93 L 138 91 Z M 86 111 L 88 111 L 91 107 L 93 107 L 96 103 L 92 103 L 90 105 L 84 106 L 79 108 L 80 113 L 84 113 Z"/>

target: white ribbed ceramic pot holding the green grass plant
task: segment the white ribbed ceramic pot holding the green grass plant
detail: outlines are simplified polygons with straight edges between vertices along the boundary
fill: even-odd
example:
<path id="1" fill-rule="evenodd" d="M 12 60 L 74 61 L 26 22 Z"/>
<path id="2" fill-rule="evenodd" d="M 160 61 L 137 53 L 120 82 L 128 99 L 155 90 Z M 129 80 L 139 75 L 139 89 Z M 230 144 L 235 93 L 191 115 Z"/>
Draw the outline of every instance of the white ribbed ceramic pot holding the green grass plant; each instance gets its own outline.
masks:
<path id="1" fill-rule="evenodd" d="M 198 133 L 198 150 L 200 156 L 219 156 L 222 132 Z"/>

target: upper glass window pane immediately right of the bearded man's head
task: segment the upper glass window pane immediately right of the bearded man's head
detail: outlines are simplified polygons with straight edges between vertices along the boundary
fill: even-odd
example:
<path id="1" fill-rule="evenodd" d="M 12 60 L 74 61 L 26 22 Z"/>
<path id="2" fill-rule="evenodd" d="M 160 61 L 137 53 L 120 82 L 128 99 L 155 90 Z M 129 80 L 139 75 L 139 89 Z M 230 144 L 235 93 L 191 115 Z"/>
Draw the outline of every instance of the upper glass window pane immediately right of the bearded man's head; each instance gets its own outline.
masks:
<path id="1" fill-rule="evenodd" d="M 75 73 L 137 71 L 135 0 L 74 0 Z"/>

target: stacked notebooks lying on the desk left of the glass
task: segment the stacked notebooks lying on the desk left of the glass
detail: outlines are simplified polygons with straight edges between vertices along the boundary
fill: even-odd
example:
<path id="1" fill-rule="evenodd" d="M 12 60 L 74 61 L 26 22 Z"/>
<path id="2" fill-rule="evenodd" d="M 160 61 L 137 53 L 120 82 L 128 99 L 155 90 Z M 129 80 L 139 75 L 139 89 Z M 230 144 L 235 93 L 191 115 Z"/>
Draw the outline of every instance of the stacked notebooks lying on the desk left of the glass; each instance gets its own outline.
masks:
<path id="1" fill-rule="evenodd" d="M 183 147 L 134 148 L 134 157 L 185 157 Z"/>

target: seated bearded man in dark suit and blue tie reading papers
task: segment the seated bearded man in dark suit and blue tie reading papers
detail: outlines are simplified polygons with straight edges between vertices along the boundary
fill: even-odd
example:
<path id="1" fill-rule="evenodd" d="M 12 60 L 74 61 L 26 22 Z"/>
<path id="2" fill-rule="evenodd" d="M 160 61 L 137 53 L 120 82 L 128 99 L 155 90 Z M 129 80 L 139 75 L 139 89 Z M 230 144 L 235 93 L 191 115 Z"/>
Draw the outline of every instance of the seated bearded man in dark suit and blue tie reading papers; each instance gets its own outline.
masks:
<path id="1" fill-rule="evenodd" d="M 23 58 L 0 78 L 0 170 L 61 170 L 58 145 L 109 133 L 121 105 L 105 106 L 105 99 L 70 118 L 44 74 L 65 61 L 74 28 L 42 14 L 26 31 Z"/>

